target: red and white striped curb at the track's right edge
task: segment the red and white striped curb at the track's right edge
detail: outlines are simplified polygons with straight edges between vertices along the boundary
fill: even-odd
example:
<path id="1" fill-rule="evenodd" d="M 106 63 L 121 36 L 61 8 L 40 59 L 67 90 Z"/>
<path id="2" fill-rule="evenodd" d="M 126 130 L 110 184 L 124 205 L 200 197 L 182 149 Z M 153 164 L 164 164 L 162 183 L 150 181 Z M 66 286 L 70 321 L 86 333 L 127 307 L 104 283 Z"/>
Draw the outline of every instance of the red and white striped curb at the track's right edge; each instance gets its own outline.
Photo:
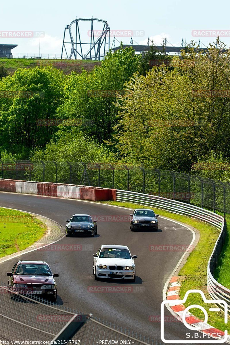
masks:
<path id="1" fill-rule="evenodd" d="M 166 299 L 167 300 L 181 299 L 179 295 L 180 286 L 181 286 L 180 277 L 177 277 L 177 276 L 172 277 L 169 283 L 169 287 L 166 292 Z M 176 314 L 178 320 L 183 322 L 182 314 L 184 312 L 184 309 L 186 309 L 186 307 L 183 304 L 175 304 L 175 303 L 169 304 L 168 306 L 172 310 L 173 312 L 172 314 Z M 185 320 L 188 324 L 194 327 L 200 327 L 200 332 L 203 332 L 212 338 L 216 338 L 218 339 L 218 341 L 221 341 L 224 339 L 223 331 L 220 331 L 220 329 L 217 329 L 217 328 L 213 328 L 211 325 L 198 319 L 196 316 L 192 315 L 190 312 L 186 313 Z M 230 342 L 230 335 L 228 335 L 227 341 Z"/>

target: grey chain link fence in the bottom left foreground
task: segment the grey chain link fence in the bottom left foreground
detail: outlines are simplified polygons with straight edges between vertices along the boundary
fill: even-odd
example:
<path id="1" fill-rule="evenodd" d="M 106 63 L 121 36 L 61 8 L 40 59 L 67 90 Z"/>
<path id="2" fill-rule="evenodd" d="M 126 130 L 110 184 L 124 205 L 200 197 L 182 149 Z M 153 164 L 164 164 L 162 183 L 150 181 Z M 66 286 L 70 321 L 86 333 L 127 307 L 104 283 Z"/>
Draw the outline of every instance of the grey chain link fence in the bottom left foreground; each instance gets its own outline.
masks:
<path id="1" fill-rule="evenodd" d="M 0 304 L 0 340 L 9 344 L 13 344 L 13 341 L 26 344 L 35 340 L 51 343 L 54 339 L 57 340 L 57 344 L 61 344 L 58 343 L 58 340 L 61 340 L 60 334 L 64 333 L 63 330 L 71 319 L 72 328 L 68 336 L 70 333 L 73 336 L 64 339 L 75 341 L 72 344 L 97 344 L 99 340 L 108 339 L 118 340 L 118 343 L 126 341 L 126 344 L 131 340 L 130 343 L 133 345 L 157 344 L 157 341 L 129 329 L 108 323 L 91 314 L 51 304 L 38 296 L 14 294 L 10 297 L 9 289 L 4 283 L 0 285 Z"/>

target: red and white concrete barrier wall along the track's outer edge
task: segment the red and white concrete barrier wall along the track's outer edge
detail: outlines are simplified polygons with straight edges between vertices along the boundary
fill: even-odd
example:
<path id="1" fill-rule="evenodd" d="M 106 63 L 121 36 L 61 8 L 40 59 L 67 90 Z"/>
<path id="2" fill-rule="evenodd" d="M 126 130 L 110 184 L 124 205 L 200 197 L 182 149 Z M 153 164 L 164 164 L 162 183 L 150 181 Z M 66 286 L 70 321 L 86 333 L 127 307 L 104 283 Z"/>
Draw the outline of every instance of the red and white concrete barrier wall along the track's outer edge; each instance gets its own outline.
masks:
<path id="1" fill-rule="evenodd" d="M 116 189 L 0 179 L 0 191 L 91 201 L 116 200 Z"/>

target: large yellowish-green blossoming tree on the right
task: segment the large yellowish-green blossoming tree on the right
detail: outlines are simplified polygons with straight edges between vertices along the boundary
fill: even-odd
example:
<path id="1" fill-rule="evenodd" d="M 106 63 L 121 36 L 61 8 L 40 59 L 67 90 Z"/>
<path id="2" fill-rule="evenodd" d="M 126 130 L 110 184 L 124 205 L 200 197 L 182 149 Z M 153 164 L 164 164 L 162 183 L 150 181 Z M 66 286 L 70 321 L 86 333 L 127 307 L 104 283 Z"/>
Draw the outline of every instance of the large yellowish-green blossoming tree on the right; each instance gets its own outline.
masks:
<path id="1" fill-rule="evenodd" d="M 230 52 L 221 55 L 223 48 L 219 42 L 202 55 L 193 44 L 170 72 L 154 67 L 127 83 L 114 137 L 123 159 L 188 172 L 211 150 L 225 147 L 230 156 Z"/>

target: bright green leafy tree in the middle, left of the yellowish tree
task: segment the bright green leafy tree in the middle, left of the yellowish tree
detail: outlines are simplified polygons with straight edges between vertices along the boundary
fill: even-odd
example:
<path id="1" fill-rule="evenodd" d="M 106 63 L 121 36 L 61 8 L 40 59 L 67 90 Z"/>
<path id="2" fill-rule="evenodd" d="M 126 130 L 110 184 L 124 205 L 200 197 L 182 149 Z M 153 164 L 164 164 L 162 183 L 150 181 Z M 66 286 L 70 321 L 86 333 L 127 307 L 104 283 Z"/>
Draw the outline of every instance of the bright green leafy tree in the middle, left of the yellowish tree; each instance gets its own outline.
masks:
<path id="1" fill-rule="evenodd" d="M 91 73 L 72 72 L 64 87 L 64 103 L 57 114 L 59 118 L 90 120 L 90 126 L 83 126 L 87 135 L 96 135 L 99 142 L 111 138 L 112 128 L 117 124 L 117 109 L 114 106 L 123 85 L 137 71 L 140 56 L 132 48 L 107 53 L 101 66 Z M 108 92 L 107 92 L 108 91 Z"/>

